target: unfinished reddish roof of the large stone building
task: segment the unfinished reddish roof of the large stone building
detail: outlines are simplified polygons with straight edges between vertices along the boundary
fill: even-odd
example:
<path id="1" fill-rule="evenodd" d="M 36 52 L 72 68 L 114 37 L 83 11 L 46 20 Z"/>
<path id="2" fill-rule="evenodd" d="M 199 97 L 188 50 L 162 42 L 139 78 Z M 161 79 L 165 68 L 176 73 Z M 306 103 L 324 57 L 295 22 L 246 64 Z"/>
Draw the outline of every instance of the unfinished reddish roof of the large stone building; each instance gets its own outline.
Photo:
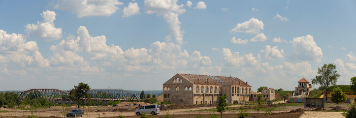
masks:
<path id="1" fill-rule="evenodd" d="M 211 76 L 211 75 L 195 75 L 179 73 L 182 77 L 188 79 L 194 84 L 200 85 L 236 85 L 241 87 L 251 87 L 236 77 L 227 76 Z"/>

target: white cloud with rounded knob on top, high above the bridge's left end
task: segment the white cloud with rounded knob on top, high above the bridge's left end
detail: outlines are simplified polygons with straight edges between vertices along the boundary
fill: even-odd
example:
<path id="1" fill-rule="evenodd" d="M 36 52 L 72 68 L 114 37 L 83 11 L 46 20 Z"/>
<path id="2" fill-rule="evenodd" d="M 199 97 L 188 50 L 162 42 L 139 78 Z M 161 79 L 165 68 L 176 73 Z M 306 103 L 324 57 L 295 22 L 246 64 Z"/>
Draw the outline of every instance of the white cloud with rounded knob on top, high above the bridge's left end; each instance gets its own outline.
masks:
<path id="1" fill-rule="evenodd" d="M 37 38 L 45 41 L 53 41 L 62 38 L 62 29 L 55 28 L 53 23 L 56 20 L 56 13 L 54 11 L 43 11 L 41 14 L 43 21 L 37 24 L 27 24 L 25 26 L 26 33 L 34 33 Z"/>

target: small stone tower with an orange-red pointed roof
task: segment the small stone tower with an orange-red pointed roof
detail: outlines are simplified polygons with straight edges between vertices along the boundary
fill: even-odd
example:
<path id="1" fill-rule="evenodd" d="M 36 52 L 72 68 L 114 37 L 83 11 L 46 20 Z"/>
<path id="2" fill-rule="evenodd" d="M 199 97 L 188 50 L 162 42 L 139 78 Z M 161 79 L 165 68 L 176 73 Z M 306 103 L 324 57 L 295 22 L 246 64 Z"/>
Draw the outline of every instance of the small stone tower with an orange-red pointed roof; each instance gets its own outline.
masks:
<path id="1" fill-rule="evenodd" d="M 301 80 L 298 81 L 298 87 L 295 88 L 294 91 L 294 96 L 296 95 L 309 95 L 309 91 L 313 90 L 313 87 L 311 84 L 309 84 L 310 82 L 305 79 L 302 78 Z"/>

